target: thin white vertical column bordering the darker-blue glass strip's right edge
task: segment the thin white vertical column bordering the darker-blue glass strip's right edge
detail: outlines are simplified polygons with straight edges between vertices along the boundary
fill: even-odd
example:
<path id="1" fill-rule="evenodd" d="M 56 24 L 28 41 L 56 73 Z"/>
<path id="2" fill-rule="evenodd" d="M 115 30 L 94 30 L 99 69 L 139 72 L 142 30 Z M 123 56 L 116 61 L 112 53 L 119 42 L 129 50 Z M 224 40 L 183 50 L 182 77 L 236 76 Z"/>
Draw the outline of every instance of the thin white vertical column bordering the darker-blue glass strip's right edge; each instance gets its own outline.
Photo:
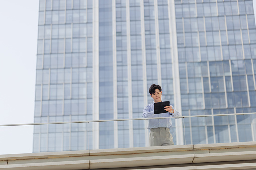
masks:
<path id="1" fill-rule="evenodd" d="M 116 1 L 112 0 L 113 38 L 113 118 L 117 119 L 117 48 L 116 48 Z M 114 148 L 118 148 L 118 122 L 114 121 Z"/>

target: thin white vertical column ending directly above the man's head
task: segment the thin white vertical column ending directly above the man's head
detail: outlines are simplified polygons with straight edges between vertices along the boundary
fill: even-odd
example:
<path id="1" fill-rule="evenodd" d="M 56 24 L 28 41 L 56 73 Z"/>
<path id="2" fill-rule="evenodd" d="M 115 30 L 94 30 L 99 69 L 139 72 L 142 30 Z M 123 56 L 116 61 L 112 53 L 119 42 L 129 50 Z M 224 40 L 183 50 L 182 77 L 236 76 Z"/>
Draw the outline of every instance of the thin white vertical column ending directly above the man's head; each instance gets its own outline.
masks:
<path id="1" fill-rule="evenodd" d="M 158 3 L 154 0 L 155 10 L 155 44 L 156 44 L 156 58 L 157 58 L 157 78 L 158 84 L 162 86 L 162 74 L 161 74 L 161 56 L 160 56 L 160 35 L 159 35 L 159 17 L 158 17 Z"/>

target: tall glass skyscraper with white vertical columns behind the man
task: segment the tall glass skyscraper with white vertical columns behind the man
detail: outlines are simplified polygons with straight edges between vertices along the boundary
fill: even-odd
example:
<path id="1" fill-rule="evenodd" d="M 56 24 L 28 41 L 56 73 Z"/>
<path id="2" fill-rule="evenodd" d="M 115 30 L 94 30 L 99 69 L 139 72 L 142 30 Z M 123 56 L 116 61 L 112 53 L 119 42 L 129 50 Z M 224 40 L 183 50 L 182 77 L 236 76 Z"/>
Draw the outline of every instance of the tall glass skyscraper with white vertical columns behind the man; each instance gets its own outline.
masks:
<path id="1" fill-rule="evenodd" d="M 151 84 L 183 116 L 256 112 L 255 74 L 252 0 L 40 0 L 35 123 L 141 118 Z M 255 118 L 173 119 L 171 132 L 254 141 Z M 144 120 L 36 125 L 33 151 L 147 144 Z"/>

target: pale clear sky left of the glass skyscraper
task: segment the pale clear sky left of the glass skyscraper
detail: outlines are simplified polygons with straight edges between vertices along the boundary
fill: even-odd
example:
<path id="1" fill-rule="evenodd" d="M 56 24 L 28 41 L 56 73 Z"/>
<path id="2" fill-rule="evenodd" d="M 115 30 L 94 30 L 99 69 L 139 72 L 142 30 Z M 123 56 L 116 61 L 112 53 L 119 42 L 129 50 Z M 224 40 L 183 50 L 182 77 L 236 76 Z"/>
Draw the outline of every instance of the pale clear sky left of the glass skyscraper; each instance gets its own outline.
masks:
<path id="1" fill-rule="evenodd" d="M 38 7 L 39 0 L 0 0 L 1 125 L 34 122 Z M 0 127 L 0 155 L 32 148 L 33 126 Z"/>

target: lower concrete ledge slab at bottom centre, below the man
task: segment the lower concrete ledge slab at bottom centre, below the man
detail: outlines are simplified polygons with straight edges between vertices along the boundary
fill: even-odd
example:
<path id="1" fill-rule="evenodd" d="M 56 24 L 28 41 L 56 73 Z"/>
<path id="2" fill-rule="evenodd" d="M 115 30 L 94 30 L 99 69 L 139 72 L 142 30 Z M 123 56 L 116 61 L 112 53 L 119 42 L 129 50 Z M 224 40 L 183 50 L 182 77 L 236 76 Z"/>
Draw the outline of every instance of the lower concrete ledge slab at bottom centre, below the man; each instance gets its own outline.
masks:
<path id="1" fill-rule="evenodd" d="M 176 156 L 153 156 L 138 158 L 119 158 L 119 159 L 104 159 L 90 160 L 90 168 L 122 168 L 122 167 L 139 167 L 139 166 L 156 166 L 168 164 L 186 164 L 192 163 L 193 154 L 176 155 Z"/>

